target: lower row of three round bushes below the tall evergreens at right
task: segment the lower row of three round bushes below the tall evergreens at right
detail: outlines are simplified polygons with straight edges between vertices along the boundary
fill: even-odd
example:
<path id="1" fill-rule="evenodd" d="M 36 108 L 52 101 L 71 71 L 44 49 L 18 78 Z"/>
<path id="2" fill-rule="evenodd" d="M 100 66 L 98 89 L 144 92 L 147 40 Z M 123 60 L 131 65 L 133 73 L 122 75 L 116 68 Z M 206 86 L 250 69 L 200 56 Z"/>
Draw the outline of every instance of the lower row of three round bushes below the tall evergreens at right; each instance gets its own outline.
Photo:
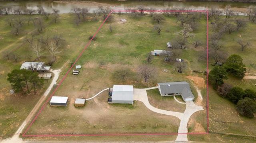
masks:
<path id="1" fill-rule="evenodd" d="M 218 86 L 217 92 L 223 98 L 227 98 L 236 104 L 236 110 L 242 116 L 253 118 L 256 113 L 256 92 L 252 89 L 243 90 L 240 87 L 232 87 L 224 83 Z"/>

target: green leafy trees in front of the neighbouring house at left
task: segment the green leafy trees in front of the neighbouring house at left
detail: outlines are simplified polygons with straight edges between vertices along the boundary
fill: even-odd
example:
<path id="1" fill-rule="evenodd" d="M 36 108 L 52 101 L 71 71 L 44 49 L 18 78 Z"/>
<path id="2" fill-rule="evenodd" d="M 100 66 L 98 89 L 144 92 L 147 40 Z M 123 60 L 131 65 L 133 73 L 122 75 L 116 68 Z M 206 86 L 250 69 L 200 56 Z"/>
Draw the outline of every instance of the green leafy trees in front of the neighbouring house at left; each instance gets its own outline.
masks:
<path id="1" fill-rule="evenodd" d="M 36 93 L 44 85 L 44 80 L 38 77 L 38 72 L 26 69 L 13 70 L 8 73 L 7 80 L 16 93 L 26 93 L 31 90 Z"/>

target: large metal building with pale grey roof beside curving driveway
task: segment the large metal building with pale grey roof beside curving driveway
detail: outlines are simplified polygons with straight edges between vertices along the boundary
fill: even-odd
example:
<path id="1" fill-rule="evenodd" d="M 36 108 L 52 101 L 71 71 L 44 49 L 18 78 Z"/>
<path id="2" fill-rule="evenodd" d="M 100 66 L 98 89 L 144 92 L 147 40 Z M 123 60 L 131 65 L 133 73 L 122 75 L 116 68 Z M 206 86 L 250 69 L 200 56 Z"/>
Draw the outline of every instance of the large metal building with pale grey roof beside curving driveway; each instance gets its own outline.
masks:
<path id="1" fill-rule="evenodd" d="M 133 104 L 132 85 L 114 85 L 109 103 Z"/>

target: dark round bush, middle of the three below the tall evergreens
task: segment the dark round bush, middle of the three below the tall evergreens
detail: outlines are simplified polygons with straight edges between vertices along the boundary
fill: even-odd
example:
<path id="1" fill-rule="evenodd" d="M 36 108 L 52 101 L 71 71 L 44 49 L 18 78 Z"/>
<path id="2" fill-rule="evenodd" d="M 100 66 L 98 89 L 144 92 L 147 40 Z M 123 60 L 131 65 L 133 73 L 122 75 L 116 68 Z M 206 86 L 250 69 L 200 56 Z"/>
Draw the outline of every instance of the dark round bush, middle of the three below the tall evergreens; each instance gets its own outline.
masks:
<path id="1" fill-rule="evenodd" d="M 242 99 L 245 95 L 245 92 L 240 87 L 234 87 L 230 90 L 229 94 L 227 94 L 227 98 L 236 104 L 240 99 Z"/>

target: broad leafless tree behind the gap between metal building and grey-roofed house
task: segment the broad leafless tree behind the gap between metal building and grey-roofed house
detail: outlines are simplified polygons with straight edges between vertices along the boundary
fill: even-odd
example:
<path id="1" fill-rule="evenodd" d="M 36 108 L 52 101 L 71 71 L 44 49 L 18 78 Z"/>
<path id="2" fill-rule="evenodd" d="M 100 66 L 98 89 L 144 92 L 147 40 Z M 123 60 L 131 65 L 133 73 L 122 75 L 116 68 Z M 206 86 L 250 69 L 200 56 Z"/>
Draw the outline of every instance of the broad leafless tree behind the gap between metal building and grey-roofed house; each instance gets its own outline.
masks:
<path id="1" fill-rule="evenodd" d="M 154 73 L 156 72 L 153 67 L 149 65 L 141 65 L 138 68 L 139 74 L 144 78 L 144 82 L 148 82 L 148 80 L 154 77 Z"/>

